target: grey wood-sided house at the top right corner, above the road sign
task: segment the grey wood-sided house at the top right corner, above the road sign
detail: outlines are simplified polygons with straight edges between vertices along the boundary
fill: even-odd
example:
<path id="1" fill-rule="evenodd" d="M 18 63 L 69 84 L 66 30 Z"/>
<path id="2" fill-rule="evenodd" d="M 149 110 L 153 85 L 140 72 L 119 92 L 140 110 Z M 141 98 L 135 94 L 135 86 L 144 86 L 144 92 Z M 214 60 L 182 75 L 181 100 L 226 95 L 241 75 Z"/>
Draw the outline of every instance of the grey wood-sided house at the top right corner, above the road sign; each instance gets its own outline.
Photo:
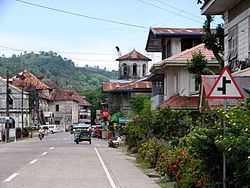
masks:
<path id="1" fill-rule="evenodd" d="M 203 15 L 223 15 L 225 22 L 224 60 L 233 70 L 250 66 L 250 1 L 207 0 Z"/>

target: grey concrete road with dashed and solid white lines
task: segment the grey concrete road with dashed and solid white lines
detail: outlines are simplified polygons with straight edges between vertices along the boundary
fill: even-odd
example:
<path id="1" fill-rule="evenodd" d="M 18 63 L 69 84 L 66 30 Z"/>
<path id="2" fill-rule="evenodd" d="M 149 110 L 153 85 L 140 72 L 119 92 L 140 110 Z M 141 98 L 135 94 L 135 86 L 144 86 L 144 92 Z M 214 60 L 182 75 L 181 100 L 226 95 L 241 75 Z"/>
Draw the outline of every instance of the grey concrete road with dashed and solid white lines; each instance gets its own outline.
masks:
<path id="1" fill-rule="evenodd" d="M 3 188 L 156 188 L 123 152 L 106 141 L 73 143 L 69 133 L 0 144 Z"/>

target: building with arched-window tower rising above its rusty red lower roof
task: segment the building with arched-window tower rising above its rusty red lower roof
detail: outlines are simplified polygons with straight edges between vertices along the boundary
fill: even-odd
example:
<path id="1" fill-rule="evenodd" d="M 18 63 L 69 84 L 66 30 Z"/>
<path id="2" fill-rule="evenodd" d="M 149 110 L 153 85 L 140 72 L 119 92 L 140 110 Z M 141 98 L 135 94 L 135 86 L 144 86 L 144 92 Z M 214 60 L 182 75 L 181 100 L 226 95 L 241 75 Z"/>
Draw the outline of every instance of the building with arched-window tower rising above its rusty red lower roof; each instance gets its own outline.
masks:
<path id="1" fill-rule="evenodd" d="M 111 114 L 128 113 L 134 95 L 151 96 L 151 82 L 144 80 L 151 59 L 134 49 L 116 60 L 119 61 L 118 80 L 104 82 L 102 91 Z"/>

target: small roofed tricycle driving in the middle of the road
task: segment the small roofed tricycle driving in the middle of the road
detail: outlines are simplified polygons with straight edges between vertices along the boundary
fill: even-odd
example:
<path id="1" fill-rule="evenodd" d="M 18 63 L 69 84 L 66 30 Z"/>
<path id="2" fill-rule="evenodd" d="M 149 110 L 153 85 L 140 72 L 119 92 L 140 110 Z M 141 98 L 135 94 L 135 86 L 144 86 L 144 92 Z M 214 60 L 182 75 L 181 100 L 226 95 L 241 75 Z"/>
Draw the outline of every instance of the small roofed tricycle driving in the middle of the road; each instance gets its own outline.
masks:
<path id="1" fill-rule="evenodd" d="M 74 142 L 79 144 L 82 141 L 88 141 L 91 144 L 91 128 L 87 124 L 78 124 L 73 126 Z"/>

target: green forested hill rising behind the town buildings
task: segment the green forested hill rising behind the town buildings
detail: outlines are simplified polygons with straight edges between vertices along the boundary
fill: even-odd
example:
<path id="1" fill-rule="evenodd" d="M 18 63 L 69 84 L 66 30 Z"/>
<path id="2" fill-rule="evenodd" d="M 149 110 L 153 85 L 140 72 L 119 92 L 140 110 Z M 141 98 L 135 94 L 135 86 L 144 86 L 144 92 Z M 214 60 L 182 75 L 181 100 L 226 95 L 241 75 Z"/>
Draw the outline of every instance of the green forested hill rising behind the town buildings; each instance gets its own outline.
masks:
<path id="1" fill-rule="evenodd" d="M 106 71 L 87 65 L 76 67 L 73 61 L 54 52 L 0 57 L 0 75 L 5 76 L 7 68 L 11 76 L 27 69 L 34 75 L 43 75 L 44 81 L 52 81 L 60 87 L 75 88 L 78 91 L 99 87 L 102 82 L 117 77 L 117 71 Z"/>

